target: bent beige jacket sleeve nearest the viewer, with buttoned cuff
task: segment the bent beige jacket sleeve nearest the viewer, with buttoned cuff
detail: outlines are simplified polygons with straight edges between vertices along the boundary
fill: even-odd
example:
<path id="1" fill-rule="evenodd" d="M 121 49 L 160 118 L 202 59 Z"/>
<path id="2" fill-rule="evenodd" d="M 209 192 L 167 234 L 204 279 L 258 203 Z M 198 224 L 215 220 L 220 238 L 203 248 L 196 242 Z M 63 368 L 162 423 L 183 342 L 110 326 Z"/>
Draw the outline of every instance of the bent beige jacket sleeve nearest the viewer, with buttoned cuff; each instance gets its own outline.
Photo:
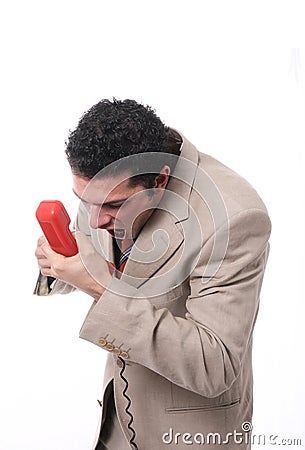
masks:
<path id="1" fill-rule="evenodd" d="M 221 230 L 218 230 L 221 232 Z M 251 340 L 269 254 L 271 223 L 260 209 L 230 220 L 225 258 L 203 283 L 205 243 L 190 275 L 184 317 L 156 309 L 138 289 L 113 279 L 91 307 L 80 337 L 103 346 L 103 337 L 128 349 L 130 361 L 206 397 L 228 390 L 238 377 Z"/>

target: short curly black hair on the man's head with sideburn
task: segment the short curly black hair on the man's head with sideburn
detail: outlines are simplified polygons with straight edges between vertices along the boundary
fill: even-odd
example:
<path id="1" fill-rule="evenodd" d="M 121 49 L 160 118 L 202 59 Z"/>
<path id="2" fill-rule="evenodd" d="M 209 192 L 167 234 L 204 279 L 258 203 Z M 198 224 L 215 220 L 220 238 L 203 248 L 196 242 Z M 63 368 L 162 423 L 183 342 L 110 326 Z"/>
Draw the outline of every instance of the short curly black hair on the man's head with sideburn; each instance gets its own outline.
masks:
<path id="1" fill-rule="evenodd" d="M 164 153 L 178 155 L 180 145 L 180 136 L 166 127 L 150 106 L 135 100 L 113 98 L 101 100 L 83 114 L 66 141 L 66 155 L 76 175 L 91 179 L 111 165 L 112 173 L 128 169 L 133 185 L 143 184 L 150 188 L 156 172 L 165 164 L 173 170 L 172 159 L 166 161 Z M 143 164 L 147 164 L 144 154 L 148 152 L 160 152 L 161 155 L 154 173 L 147 166 L 143 170 Z M 126 167 L 126 159 L 123 159 L 125 164 L 120 163 L 122 158 L 130 155 L 139 155 L 138 164 L 134 164 L 134 159 L 131 167 Z M 146 173 L 137 175 L 137 172 Z"/>

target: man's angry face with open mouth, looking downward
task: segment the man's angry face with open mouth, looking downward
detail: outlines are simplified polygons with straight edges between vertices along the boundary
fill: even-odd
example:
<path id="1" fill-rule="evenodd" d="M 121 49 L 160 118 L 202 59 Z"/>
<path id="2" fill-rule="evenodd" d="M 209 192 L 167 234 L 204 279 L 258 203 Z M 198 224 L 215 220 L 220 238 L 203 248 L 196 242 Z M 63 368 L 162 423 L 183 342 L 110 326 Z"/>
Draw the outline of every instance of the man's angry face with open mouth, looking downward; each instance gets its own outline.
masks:
<path id="1" fill-rule="evenodd" d="M 117 239 L 136 237 L 163 195 L 162 188 L 130 185 L 127 173 L 92 180 L 72 174 L 72 178 L 73 191 L 89 213 L 90 226 L 105 229 Z"/>

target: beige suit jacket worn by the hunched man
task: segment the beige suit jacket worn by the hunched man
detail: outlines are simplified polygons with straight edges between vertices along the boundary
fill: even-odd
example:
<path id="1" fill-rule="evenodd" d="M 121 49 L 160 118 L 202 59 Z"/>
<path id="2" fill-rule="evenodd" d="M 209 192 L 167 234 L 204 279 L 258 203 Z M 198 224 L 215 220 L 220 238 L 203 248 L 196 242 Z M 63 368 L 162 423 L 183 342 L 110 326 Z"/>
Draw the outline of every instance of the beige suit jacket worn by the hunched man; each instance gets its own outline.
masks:
<path id="1" fill-rule="evenodd" d="M 89 229 L 82 209 L 76 226 L 113 260 L 110 235 Z M 250 448 L 252 334 L 270 232 L 254 188 L 183 137 L 160 207 L 80 331 L 108 351 L 104 392 L 113 380 L 122 431 L 129 441 L 127 409 L 138 449 Z M 56 281 L 52 293 L 72 289 Z M 45 277 L 35 292 L 48 293 Z"/>

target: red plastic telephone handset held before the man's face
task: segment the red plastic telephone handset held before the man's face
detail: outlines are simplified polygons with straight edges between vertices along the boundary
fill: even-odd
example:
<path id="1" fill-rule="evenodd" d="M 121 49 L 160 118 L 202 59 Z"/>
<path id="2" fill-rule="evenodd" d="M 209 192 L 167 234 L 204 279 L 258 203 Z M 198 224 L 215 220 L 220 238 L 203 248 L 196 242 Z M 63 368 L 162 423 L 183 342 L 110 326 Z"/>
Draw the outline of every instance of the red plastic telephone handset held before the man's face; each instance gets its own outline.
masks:
<path id="1" fill-rule="evenodd" d="M 54 252 L 64 256 L 74 256 L 78 253 L 76 240 L 69 228 L 69 214 L 59 200 L 40 202 L 36 217 Z"/>

